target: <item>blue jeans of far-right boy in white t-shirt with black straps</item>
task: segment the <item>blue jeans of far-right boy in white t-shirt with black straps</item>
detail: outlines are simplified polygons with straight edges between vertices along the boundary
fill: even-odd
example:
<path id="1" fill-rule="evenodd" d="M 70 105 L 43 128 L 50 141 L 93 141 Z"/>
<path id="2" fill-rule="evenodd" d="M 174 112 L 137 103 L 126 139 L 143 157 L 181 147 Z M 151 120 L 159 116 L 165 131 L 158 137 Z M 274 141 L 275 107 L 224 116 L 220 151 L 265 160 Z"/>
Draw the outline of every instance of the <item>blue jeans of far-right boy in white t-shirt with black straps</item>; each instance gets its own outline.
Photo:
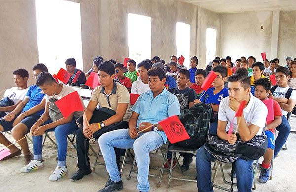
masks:
<path id="1" fill-rule="evenodd" d="M 282 123 L 276 127 L 276 130 L 279 131 L 279 134 L 275 140 L 274 158 L 278 155 L 281 148 L 286 143 L 291 130 L 290 124 L 284 115 L 282 116 Z"/>

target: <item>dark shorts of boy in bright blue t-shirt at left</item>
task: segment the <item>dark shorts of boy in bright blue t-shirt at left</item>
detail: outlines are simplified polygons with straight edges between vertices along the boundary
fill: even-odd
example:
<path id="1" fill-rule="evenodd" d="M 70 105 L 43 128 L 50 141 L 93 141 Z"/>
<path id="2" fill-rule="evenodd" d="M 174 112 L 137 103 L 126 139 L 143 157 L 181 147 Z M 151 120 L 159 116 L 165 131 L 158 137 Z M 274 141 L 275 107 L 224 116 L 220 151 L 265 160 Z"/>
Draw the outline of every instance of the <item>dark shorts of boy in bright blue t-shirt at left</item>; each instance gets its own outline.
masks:
<path id="1" fill-rule="evenodd" d="M 40 118 L 40 115 L 37 115 L 36 113 L 25 117 L 20 123 L 23 123 L 27 126 L 28 132 L 30 131 L 32 125 Z M 13 126 L 13 122 L 16 118 L 14 118 L 12 121 L 5 121 L 3 118 L 0 119 L 0 125 L 4 128 L 4 131 L 11 131 Z"/>

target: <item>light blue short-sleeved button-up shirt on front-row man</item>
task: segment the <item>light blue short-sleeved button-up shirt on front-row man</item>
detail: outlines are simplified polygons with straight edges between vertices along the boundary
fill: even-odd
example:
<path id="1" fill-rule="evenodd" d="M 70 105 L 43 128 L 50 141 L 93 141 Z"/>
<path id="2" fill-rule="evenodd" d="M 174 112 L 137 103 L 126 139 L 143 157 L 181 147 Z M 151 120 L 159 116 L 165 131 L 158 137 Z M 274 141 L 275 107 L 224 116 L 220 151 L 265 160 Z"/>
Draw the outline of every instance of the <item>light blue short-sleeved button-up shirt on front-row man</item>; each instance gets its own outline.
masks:
<path id="1" fill-rule="evenodd" d="M 142 122 L 158 124 L 159 121 L 170 116 L 180 115 L 178 99 L 167 89 L 163 89 L 155 98 L 153 98 L 152 91 L 142 93 L 132 107 L 132 111 L 139 114 L 137 127 Z M 161 135 L 163 142 L 166 143 L 167 136 L 164 131 L 157 131 L 157 133 Z"/>

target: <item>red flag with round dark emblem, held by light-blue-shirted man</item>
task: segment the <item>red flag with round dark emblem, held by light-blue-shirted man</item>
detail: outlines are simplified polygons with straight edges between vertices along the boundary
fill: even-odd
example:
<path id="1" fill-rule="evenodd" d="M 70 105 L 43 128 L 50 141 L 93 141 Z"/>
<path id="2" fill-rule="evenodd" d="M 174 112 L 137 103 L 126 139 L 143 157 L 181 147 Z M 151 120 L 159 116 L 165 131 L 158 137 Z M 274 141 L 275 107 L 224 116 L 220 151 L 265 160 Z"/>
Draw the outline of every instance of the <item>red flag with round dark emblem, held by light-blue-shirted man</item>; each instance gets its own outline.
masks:
<path id="1" fill-rule="evenodd" d="M 161 125 L 166 136 L 172 144 L 190 138 L 177 115 L 168 117 L 159 121 L 158 123 Z"/>

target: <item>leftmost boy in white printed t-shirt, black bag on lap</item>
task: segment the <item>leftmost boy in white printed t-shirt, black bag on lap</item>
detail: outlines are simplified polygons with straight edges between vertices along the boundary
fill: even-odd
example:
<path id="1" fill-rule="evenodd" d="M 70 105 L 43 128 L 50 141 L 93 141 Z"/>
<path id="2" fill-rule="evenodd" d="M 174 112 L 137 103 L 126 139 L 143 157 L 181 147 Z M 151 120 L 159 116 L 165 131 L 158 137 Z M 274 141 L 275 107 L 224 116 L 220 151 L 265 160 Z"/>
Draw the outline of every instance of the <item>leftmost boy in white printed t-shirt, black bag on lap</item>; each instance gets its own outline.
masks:
<path id="1" fill-rule="evenodd" d="M 0 118 L 4 117 L 10 111 L 13 111 L 18 104 L 24 100 L 28 91 L 27 81 L 29 73 L 26 69 L 13 71 L 13 79 L 16 87 L 9 88 L 5 91 L 0 101 Z M 1 135 L 2 133 L 0 133 Z"/>

